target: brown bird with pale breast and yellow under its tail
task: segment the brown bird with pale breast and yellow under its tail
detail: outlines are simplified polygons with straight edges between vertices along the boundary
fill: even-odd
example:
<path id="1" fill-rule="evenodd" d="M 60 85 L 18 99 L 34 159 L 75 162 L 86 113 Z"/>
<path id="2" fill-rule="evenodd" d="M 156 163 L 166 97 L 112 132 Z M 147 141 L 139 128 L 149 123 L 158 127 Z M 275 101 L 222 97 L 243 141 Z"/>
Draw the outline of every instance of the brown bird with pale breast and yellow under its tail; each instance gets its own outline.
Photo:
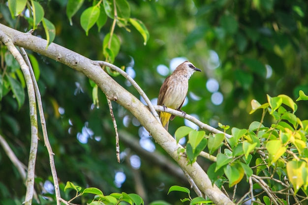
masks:
<path id="1" fill-rule="evenodd" d="M 191 62 L 185 61 L 178 65 L 173 73 L 163 82 L 159 94 L 157 105 L 175 110 L 181 110 L 188 91 L 188 79 L 195 71 L 201 71 Z M 174 115 L 160 112 L 159 118 L 162 126 L 168 131 L 169 119 L 173 120 Z"/>

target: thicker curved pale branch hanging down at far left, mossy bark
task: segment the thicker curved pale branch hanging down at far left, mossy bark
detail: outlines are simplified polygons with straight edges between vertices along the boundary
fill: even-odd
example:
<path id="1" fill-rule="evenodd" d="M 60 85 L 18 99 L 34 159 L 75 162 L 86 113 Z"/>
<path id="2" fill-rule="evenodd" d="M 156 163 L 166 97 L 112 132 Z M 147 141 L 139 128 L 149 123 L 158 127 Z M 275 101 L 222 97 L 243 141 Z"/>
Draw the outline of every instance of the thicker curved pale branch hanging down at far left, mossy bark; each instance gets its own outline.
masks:
<path id="1" fill-rule="evenodd" d="M 19 63 L 21 70 L 24 74 L 28 97 L 29 97 L 29 107 L 30 107 L 30 122 L 31 122 L 31 146 L 28 162 L 28 175 L 27 175 L 27 190 L 25 196 L 25 205 L 31 205 L 34 191 L 34 171 L 36 162 L 36 153 L 38 145 L 38 128 L 37 128 L 37 113 L 36 113 L 36 102 L 35 102 L 35 91 L 33 88 L 33 83 L 31 80 L 31 75 L 29 67 L 27 66 L 22 55 L 16 49 L 12 40 L 0 30 L 0 40 L 6 45 L 7 49 L 14 56 L 14 58 Z"/>

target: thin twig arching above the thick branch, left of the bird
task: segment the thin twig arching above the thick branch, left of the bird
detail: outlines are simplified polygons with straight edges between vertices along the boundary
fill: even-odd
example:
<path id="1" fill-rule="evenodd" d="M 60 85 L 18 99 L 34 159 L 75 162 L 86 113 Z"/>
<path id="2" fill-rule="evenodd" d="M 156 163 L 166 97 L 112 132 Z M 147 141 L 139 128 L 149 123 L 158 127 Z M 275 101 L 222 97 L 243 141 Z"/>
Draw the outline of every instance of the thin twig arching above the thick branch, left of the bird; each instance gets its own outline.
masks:
<path id="1" fill-rule="evenodd" d="M 160 122 L 158 114 L 156 113 L 154 106 L 152 105 L 152 103 L 151 103 L 150 99 L 148 98 L 148 96 L 146 95 L 146 93 L 139 87 L 139 85 L 125 71 L 123 71 L 121 68 L 119 68 L 119 67 L 117 67 L 114 64 L 111 64 L 109 62 L 95 60 L 95 61 L 93 61 L 93 63 L 98 64 L 100 66 L 110 67 L 111 69 L 120 73 L 124 78 L 126 78 L 126 80 L 128 80 L 131 83 L 131 85 L 134 88 L 136 88 L 136 90 L 139 92 L 139 94 L 143 97 L 143 99 L 146 101 L 147 105 L 149 106 L 151 113 Z"/>

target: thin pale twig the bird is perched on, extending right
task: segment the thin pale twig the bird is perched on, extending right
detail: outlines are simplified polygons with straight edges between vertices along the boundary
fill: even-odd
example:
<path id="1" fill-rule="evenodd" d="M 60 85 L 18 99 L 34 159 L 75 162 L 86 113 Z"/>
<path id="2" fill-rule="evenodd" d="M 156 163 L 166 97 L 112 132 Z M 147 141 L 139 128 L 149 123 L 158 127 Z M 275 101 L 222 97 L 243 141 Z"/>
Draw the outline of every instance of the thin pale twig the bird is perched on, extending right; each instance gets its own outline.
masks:
<path id="1" fill-rule="evenodd" d="M 211 127 L 208 124 L 205 124 L 205 123 L 201 122 L 200 120 L 196 119 L 195 117 L 192 117 L 192 116 L 190 116 L 188 114 L 186 114 L 184 116 L 181 111 L 173 110 L 171 108 L 166 108 L 166 107 L 163 107 L 163 106 L 160 106 L 160 105 L 156 105 L 156 106 L 154 106 L 154 108 L 155 108 L 156 111 L 159 111 L 159 112 L 166 112 L 166 113 L 170 113 L 172 115 L 178 116 L 178 117 L 184 117 L 185 119 L 188 119 L 189 121 L 192 121 L 193 123 L 198 125 L 201 129 L 208 130 L 208 131 L 210 131 L 212 133 L 215 133 L 215 134 L 218 134 L 218 133 L 224 134 L 224 136 L 226 138 L 231 138 L 232 137 L 229 134 L 226 134 L 226 133 L 224 133 L 224 132 L 222 132 L 220 130 L 217 130 L 214 127 Z"/>

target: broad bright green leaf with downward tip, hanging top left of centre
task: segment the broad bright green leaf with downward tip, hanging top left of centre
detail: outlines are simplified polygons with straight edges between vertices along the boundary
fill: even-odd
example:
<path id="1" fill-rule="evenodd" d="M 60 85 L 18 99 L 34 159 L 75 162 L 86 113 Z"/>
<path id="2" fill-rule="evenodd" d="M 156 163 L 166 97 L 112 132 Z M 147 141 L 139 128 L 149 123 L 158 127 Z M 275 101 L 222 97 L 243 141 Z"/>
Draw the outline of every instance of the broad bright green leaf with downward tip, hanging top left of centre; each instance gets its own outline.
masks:
<path id="1" fill-rule="evenodd" d="M 100 10 L 97 6 L 91 6 L 82 12 L 80 17 L 81 27 L 86 31 L 86 35 L 88 36 L 89 30 L 94 26 L 98 17 Z"/>

